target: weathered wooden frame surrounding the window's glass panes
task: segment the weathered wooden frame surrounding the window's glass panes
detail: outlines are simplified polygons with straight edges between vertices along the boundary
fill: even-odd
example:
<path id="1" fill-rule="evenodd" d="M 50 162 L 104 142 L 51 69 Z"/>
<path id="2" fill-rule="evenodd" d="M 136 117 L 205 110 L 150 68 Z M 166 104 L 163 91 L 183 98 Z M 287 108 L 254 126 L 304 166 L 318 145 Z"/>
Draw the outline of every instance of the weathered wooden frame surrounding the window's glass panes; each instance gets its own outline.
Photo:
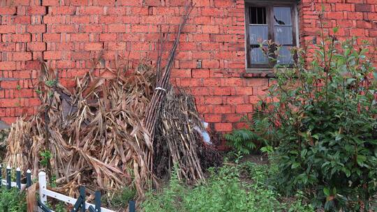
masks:
<path id="1" fill-rule="evenodd" d="M 250 8 L 251 7 L 265 7 L 267 12 L 267 28 L 268 28 L 268 40 L 275 40 L 274 33 L 274 7 L 290 7 L 291 8 L 291 20 L 292 20 L 292 36 L 293 44 L 286 46 L 298 46 L 297 40 L 297 4 L 296 1 L 256 1 L 255 3 L 245 2 L 245 28 L 246 28 L 246 70 L 249 72 L 263 73 L 270 71 L 274 67 L 275 63 L 269 61 L 268 64 L 252 64 L 251 63 L 251 45 L 250 45 Z"/>

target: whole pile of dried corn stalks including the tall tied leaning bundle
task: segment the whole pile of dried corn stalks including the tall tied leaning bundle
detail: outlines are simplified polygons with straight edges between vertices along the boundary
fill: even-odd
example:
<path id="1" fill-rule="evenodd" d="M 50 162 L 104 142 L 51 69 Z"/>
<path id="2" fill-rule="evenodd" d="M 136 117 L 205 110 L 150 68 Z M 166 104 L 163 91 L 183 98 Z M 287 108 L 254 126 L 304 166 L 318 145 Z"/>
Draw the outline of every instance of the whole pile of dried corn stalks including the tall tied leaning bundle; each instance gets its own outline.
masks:
<path id="1" fill-rule="evenodd" d="M 30 120 L 13 124 L 7 164 L 31 169 L 34 176 L 45 169 L 56 177 L 57 190 L 70 196 L 77 196 L 77 186 L 84 184 L 105 191 L 133 186 L 142 198 L 157 185 L 158 167 L 169 171 L 173 164 L 182 179 L 203 179 L 199 158 L 206 150 L 194 130 L 202 128 L 194 100 L 169 84 L 179 33 L 191 9 L 188 4 L 163 72 L 161 56 L 156 68 L 147 63 L 131 73 L 106 68 L 114 74 L 108 80 L 94 76 L 92 69 L 77 77 L 70 91 L 59 84 L 57 72 L 42 63 L 36 84 L 42 104 Z M 99 61 L 94 60 L 93 67 Z M 52 157 L 43 166 L 40 153 L 48 152 Z"/>

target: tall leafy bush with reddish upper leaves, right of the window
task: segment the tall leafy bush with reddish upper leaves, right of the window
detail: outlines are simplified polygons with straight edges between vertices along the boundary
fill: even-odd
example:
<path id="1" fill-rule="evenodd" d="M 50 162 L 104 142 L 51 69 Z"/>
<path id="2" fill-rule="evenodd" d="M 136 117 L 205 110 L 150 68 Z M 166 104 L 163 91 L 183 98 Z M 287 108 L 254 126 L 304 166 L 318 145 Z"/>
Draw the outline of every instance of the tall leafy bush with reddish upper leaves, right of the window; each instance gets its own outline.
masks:
<path id="1" fill-rule="evenodd" d="M 280 142 L 282 190 L 303 190 L 326 211 L 368 210 L 377 191 L 377 75 L 369 45 L 356 43 L 323 36 L 309 66 L 294 50 L 260 104 Z"/>

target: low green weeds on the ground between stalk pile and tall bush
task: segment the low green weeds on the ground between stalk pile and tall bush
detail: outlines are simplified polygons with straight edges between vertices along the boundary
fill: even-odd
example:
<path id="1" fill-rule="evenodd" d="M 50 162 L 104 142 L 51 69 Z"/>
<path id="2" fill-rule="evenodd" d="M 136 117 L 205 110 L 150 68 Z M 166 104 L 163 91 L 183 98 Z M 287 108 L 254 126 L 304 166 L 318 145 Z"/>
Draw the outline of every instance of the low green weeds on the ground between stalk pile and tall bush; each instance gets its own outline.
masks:
<path id="1" fill-rule="evenodd" d="M 244 171 L 246 170 L 246 173 Z M 258 170 L 258 172 L 255 172 Z M 209 179 L 188 188 L 179 183 L 173 174 L 167 188 L 162 192 L 150 192 L 142 204 L 143 211 L 313 211 L 301 199 L 282 204 L 279 194 L 269 185 L 269 173 L 276 169 L 258 165 L 226 165 L 209 169 Z M 253 174 L 256 173 L 256 174 Z M 241 174 L 249 176 L 246 183 Z"/>

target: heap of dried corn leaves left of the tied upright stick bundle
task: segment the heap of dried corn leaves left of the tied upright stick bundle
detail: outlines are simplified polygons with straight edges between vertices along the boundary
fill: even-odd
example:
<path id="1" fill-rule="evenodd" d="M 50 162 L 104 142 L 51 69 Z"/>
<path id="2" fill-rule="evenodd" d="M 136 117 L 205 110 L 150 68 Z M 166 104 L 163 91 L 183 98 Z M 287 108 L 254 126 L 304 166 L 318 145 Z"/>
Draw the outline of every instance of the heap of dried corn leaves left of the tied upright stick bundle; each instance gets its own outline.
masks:
<path id="1" fill-rule="evenodd" d="M 50 151 L 45 169 L 57 177 L 61 192 L 75 195 L 80 184 L 93 190 L 132 184 L 142 196 L 153 180 L 142 119 L 154 90 L 154 70 L 140 65 L 131 75 L 118 72 L 108 82 L 89 72 L 76 79 L 71 92 L 43 67 L 37 85 L 42 105 L 31 121 L 13 124 L 6 162 L 30 168 L 36 176 L 40 153 Z"/>

